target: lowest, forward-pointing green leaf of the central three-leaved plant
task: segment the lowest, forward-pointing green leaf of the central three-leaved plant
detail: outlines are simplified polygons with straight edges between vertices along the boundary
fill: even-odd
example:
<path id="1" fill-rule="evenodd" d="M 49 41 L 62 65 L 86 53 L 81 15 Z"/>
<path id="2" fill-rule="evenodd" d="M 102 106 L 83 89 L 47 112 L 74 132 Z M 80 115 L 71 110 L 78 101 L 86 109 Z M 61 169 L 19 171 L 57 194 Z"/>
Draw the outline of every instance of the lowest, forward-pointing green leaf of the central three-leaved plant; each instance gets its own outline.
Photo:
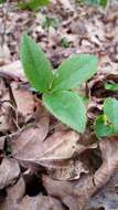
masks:
<path id="1" fill-rule="evenodd" d="M 45 107 L 62 123 L 78 133 L 86 126 L 86 109 L 82 98 L 73 92 L 60 91 L 43 95 Z"/>

